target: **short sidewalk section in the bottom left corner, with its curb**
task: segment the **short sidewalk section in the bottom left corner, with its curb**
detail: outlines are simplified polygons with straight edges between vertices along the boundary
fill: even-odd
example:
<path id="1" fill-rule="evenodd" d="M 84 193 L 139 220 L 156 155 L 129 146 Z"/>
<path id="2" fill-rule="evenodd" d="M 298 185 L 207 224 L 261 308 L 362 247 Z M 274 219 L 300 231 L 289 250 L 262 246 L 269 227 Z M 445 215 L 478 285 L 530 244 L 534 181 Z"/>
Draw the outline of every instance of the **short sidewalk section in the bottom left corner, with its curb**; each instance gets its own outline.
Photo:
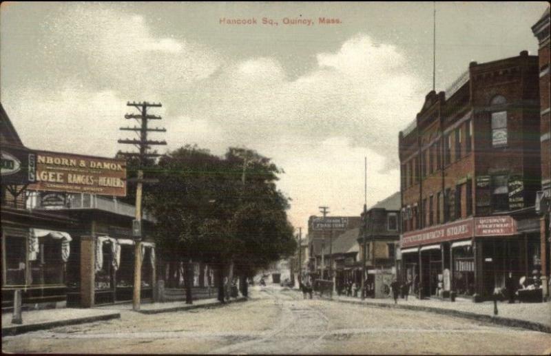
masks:
<path id="1" fill-rule="evenodd" d="M 23 311 L 23 324 L 12 324 L 12 313 L 2 313 L 2 335 L 17 335 L 56 326 L 83 324 L 100 320 L 120 319 L 117 311 L 98 309 L 58 308 L 41 311 Z"/>

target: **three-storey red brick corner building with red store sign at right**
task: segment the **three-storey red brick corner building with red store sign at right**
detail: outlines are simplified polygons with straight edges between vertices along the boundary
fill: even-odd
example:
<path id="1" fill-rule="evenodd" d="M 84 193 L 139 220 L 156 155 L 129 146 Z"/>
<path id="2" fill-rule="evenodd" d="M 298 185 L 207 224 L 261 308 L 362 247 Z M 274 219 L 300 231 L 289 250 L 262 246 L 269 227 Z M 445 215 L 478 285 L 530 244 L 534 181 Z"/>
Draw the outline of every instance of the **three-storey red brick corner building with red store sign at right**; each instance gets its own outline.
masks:
<path id="1" fill-rule="evenodd" d="M 538 58 L 472 62 L 399 133 L 402 278 L 483 300 L 538 269 Z"/>

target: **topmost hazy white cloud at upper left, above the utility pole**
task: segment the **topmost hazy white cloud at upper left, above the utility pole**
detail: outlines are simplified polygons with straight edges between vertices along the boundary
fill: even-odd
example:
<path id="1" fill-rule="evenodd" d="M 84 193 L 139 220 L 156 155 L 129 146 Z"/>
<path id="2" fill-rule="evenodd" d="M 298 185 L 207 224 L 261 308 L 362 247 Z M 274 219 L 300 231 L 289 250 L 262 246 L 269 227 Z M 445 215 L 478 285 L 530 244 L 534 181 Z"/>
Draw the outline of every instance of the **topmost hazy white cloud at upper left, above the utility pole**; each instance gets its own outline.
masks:
<path id="1" fill-rule="evenodd" d="M 80 70 L 78 76 L 125 96 L 162 98 L 207 78 L 220 65 L 211 48 L 156 36 L 142 16 L 109 3 L 72 4 L 45 25 L 45 45 L 54 54 L 50 60 L 68 62 L 60 71 Z"/>

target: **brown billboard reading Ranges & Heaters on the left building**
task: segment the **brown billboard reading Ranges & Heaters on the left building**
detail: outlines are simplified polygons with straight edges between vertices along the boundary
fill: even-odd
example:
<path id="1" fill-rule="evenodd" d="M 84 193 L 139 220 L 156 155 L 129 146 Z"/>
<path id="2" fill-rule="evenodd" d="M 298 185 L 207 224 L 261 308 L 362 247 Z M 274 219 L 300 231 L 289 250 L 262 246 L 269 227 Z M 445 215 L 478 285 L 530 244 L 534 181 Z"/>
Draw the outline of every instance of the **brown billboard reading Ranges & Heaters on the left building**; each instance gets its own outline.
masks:
<path id="1" fill-rule="evenodd" d="M 125 160 L 37 151 L 37 182 L 29 189 L 126 196 Z"/>

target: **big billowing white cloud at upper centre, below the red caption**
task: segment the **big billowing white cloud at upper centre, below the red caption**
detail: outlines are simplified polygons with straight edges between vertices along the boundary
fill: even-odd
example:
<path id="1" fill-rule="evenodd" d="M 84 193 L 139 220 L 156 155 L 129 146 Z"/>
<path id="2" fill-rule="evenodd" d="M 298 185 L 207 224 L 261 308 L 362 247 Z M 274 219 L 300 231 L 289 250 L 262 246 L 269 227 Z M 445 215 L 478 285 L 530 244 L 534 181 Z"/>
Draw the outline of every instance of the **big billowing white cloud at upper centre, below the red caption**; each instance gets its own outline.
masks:
<path id="1" fill-rule="evenodd" d="M 354 36 L 335 53 L 320 53 L 318 66 L 294 81 L 273 59 L 227 65 L 196 87 L 191 116 L 206 116 L 246 145 L 293 132 L 324 140 L 351 138 L 397 163 L 400 129 L 415 117 L 419 80 L 404 54 Z"/>

